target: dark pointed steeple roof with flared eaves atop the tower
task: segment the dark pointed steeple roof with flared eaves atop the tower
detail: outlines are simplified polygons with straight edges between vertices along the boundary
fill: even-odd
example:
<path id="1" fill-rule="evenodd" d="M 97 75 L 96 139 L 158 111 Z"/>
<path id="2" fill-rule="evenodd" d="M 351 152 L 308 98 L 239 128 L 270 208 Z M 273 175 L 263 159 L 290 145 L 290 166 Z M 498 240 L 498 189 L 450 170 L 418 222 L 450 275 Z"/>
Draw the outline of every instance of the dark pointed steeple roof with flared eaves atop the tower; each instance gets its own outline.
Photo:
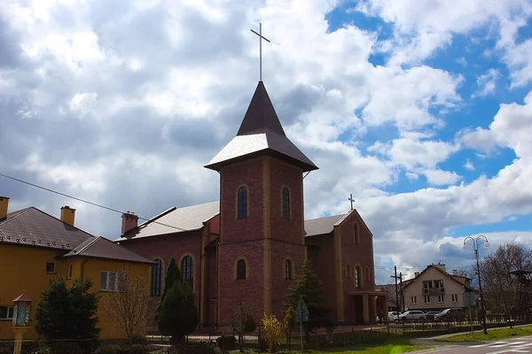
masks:
<path id="1" fill-rule="evenodd" d="M 205 167 L 219 171 L 227 163 L 262 154 L 288 160 L 304 172 L 317 170 L 317 166 L 286 137 L 270 96 L 259 81 L 237 136 Z"/>

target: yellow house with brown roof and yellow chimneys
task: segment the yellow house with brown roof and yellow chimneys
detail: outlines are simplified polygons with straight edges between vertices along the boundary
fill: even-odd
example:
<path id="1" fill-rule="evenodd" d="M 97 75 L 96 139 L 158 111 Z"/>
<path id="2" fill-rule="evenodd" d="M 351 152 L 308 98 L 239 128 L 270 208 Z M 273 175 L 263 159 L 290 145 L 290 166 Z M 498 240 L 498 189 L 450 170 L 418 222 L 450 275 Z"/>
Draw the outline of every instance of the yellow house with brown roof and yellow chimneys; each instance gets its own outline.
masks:
<path id="1" fill-rule="evenodd" d="M 30 326 L 24 339 L 34 339 L 35 312 L 43 290 L 53 277 L 92 281 L 99 291 L 98 327 L 100 338 L 124 338 L 104 311 L 106 296 L 128 272 L 145 279 L 149 289 L 153 261 L 121 247 L 104 237 L 95 237 L 74 227 L 75 210 L 64 206 L 57 219 L 35 207 L 8 213 L 9 198 L 0 196 L 0 340 L 12 340 L 12 300 L 24 293 L 32 300 Z M 144 335 L 145 327 L 142 329 Z"/>

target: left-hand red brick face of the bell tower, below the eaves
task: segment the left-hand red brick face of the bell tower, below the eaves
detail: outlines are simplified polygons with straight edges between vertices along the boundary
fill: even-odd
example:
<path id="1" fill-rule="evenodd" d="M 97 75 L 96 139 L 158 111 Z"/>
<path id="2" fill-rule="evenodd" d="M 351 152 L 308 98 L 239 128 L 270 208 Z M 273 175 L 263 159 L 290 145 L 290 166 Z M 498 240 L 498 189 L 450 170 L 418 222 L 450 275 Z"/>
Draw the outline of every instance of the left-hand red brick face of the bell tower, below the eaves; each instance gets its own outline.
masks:
<path id="1" fill-rule="evenodd" d="M 226 323 L 232 309 L 246 302 L 257 321 L 263 308 L 263 162 L 262 158 L 224 166 L 221 172 L 219 248 L 219 322 Z M 247 187 L 247 218 L 237 219 L 237 192 Z M 236 279 L 236 262 L 246 259 L 246 280 Z"/>

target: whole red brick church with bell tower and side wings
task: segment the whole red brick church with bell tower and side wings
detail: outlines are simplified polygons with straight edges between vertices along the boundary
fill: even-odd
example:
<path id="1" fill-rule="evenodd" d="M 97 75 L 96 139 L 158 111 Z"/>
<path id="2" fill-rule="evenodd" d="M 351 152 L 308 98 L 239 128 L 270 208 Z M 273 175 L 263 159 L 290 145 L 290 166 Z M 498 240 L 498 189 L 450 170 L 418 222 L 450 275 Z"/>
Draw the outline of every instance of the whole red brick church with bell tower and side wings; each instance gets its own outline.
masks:
<path id="1" fill-rule="evenodd" d="M 115 242 L 157 262 L 153 313 L 175 258 L 192 285 L 201 327 L 223 326 L 242 301 L 257 321 L 264 313 L 282 319 L 309 258 L 332 319 L 375 322 L 386 296 L 375 290 L 372 233 L 354 209 L 304 219 L 303 178 L 317 166 L 286 137 L 262 81 L 237 135 L 205 167 L 220 175 L 219 202 L 173 207 L 140 225 L 133 213 L 122 215 Z"/>

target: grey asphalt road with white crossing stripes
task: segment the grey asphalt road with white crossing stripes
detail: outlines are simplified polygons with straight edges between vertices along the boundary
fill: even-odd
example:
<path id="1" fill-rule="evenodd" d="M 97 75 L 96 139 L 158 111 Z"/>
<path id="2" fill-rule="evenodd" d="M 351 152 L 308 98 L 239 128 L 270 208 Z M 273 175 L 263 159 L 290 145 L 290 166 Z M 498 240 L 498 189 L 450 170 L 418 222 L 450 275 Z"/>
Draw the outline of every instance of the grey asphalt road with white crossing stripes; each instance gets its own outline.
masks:
<path id="1" fill-rule="evenodd" d="M 520 337 L 498 342 L 450 345 L 423 352 L 442 354 L 532 353 L 532 337 Z"/>

